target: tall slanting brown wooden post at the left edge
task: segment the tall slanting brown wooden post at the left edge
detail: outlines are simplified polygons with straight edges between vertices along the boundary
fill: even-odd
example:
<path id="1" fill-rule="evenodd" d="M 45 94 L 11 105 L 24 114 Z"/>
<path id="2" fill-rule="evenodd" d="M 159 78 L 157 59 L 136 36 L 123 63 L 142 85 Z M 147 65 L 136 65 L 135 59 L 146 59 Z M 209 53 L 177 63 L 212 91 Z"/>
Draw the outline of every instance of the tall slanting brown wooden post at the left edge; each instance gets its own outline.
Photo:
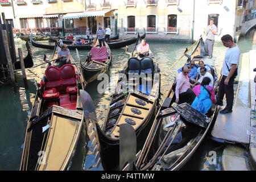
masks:
<path id="1" fill-rule="evenodd" d="M 5 42 L 5 44 L 3 46 L 5 47 L 6 58 L 7 58 L 9 69 L 10 69 L 11 82 L 14 83 L 15 76 L 14 76 L 14 69 L 13 69 L 13 61 L 11 60 L 9 41 L 8 41 L 8 36 L 7 36 L 6 30 L 3 30 L 3 42 Z"/>

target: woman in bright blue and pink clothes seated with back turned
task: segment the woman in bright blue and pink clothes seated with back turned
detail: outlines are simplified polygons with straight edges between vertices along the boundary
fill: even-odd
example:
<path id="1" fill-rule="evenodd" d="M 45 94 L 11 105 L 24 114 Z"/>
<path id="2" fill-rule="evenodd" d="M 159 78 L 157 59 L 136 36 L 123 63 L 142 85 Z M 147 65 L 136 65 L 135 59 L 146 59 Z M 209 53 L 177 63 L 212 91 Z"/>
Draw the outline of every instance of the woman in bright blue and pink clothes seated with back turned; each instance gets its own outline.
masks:
<path id="1" fill-rule="evenodd" d="M 193 88 L 196 98 L 191 106 L 203 114 L 206 114 L 212 104 L 216 102 L 214 88 L 209 86 L 210 81 L 209 77 L 204 77 L 201 84 Z"/>

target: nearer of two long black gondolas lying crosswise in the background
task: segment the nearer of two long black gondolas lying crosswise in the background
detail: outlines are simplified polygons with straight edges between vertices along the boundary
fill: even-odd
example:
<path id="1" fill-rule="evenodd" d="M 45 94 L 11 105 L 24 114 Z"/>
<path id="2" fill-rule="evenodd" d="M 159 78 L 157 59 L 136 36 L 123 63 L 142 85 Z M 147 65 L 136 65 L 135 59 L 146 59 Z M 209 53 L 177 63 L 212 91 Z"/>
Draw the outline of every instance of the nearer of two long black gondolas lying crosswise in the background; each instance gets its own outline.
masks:
<path id="1" fill-rule="evenodd" d="M 144 39 L 146 37 L 146 33 L 144 33 L 141 38 Z M 45 49 L 54 49 L 54 45 L 51 44 L 43 44 L 36 42 L 32 38 L 30 38 L 32 46 L 39 47 L 39 48 L 45 48 Z M 137 38 L 123 38 L 123 39 L 117 39 L 112 40 L 108 43 L 110 49 L 117 49 L 129 46 L 130 44 L 136 43 Z M 89 50 L 92 48 L 91 44 L 80 44 L 80 45 L 68 45 L 69 49 L 82 49 L 82 50 Z"/>

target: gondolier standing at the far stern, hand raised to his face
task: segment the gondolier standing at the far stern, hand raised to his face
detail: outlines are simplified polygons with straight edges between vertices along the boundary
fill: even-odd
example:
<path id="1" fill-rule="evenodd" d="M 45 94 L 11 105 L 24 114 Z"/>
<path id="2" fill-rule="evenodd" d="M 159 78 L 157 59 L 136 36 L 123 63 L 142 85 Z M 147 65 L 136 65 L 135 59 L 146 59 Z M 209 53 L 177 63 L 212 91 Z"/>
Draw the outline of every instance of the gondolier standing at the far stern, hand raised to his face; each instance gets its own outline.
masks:
<path id="1" fill-rule="evenodd" d="M 204 33 L 207 36 L 207 39 L 205 40 L 204 43 L 204 56 L 209 56 L 208 58 L 212 59 L 214 35 L 217 34 L 217 27 L 214 24 L 214 19 L 210 19 L 210 24 L 207 28 L 205 28 Z"/>

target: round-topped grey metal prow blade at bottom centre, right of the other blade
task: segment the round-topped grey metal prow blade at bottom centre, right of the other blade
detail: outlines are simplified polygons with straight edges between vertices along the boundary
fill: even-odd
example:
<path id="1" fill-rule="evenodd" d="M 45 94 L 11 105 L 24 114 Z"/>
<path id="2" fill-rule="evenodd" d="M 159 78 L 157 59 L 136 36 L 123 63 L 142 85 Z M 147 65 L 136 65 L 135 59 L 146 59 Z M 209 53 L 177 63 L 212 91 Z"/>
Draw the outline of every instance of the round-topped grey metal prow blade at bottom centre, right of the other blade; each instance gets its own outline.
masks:
<path id="1" fill-rule="evenodd" d="M 134 128 L 126 123 L 119 126 L 119 133 L 119 169 L 122 170 L 129 163 L 131 171 L 136 160 L 136 134 Z"/>

